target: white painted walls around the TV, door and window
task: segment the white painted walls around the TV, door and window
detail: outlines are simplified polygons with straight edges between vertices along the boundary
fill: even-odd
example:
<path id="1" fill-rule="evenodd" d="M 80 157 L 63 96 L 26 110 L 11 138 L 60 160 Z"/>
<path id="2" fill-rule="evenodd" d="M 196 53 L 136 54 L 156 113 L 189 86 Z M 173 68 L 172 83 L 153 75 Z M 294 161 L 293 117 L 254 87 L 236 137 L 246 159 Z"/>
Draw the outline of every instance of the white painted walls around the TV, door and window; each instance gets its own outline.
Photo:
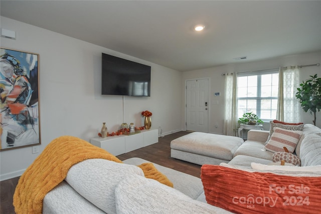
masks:
<path id="1" fill-rule="evenodd" d="M 210 79 L 208 132 L 223 134 L 225 105 L 222 74 L 310 65 L 321 61 L 319 39 L 315 49 L 306 53 L 183 72 L 4 16 L 1 17 L 1 28 L 16 32 L 15 40 L 1 37 L 2 48 L 39 54 L 41 144 L 39 153 L 33 153 L 30 146 L 1 151 L 0 180 L 20 176 L 59 136 L 71 135 L 89 141 L 97 136 L 102 122 L 106 122 L 109 131 L 116 131 L 123 122 L 142 126 L 141 112 L 144 110 L 152 112 L 152 128 L 158 129 L 159 136 L 186 130 L 186 80 Z M 151 96 L 101 95 L 101 53 L 151 66 Z M 314 74 L 321 77 L 320 66 L 301 68 L 299 82 Z M 214 96 L 217 92 L 220 96 Z M 214 100 L 217 104 L 212 104 Z M 321 113 L 317 112 L 316 117 L 316 126 L 321 127 Z M 313 120 L 313 116 L 303 110 L 301 118 L 297 122 L 312 123 Z M 269 129 L 268 122 L 264 124 L 264 129 Z"/>

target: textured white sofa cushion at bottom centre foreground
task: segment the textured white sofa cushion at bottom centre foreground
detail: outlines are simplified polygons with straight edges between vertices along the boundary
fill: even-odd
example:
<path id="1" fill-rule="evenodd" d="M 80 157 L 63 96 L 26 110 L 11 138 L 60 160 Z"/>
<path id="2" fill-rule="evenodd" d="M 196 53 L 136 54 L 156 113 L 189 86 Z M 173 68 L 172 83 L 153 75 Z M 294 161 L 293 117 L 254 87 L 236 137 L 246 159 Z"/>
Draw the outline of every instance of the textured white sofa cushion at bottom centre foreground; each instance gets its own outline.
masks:
<path id="1" fill-rule="evenodd" d="M 115 196 L 117 213 L 228 213 L 134 174 L 119 182 Z"/>

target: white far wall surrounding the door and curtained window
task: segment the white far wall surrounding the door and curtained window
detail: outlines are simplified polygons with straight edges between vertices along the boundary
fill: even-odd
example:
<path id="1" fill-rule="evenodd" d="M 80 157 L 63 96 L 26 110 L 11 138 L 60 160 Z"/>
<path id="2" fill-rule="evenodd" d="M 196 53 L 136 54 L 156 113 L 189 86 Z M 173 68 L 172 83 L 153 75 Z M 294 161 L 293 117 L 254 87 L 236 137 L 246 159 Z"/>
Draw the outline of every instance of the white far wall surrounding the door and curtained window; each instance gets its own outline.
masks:
<path id="1" fill-rule="evenodd" d="M 182 93 L 185 91 L 185 81 L 196 78 L 210 78 L 210 119 L 209 119 L 209 132 L 223 134 L 223 120 L 224 120 L 224 73 L 230 72 L 246 72 L 246 71 L 259 71 L 264 69 L 279 68 L 280 66 L 293 66 L 293 65 L 310 65 L 321 63 L 321 52 L 300 54 L 295 56 L 279 57 L 274 59 L 262 60 L 251 63 L 235 63 L 223 65 L 208 69 L 195 70 L 183 73 L 182 78 Z M 317 74 L 321 77 L 321 66 L 304 67 L 300 69 L 300 83 L 303 80 L 310 78 L 310 75 Z M 299 86 L 298 86 L 299 87 Z M 220 96 L 214 96 L 215 92 L 220 92 Z M 218 101 L 219 104 L 212 104 L 212 101 Z M 182 109 L 185 108 L 185 100 L 182 103 Z M 302 121 L 304 123 L 313 124 L 313 115 L 309 112 L 305 113 L 302 110 Z M 184 114 L 183 114 L 184 120 Z M 182 121 L 184 127 L 185 121 Z M 217 125 L 217 128 L 215 128 Z M 317 112 L 316 126 L 321 127 L 321 112 Z M 269 129 L 269 124 L 264 125 L 265 129 Z"/>

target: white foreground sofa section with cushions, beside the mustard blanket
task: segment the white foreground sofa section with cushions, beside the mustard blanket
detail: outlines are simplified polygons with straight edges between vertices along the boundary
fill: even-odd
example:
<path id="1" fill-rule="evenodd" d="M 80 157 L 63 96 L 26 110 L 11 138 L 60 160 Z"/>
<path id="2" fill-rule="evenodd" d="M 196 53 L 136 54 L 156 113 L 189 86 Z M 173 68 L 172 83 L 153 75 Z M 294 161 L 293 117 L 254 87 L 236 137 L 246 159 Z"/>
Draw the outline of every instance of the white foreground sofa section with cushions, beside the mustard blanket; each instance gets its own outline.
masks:
<path id="1" fill-rule="evenodd" d="M 200 178 L 154 164 L 172 188 L 145 178 L 136 166 L 145 162 L 89 159 L 75 164 L 45 196 L 43 213 L 231 213 L 206 203 Z"/>

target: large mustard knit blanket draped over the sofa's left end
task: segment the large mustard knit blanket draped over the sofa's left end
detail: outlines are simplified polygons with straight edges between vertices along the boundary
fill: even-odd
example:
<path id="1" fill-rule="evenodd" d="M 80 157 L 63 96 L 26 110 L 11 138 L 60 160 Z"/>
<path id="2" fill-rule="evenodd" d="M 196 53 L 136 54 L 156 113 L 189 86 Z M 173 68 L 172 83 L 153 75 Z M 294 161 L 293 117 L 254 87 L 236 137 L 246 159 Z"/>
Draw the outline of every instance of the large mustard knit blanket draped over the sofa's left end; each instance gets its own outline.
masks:
<path id="1" fill-rule="evenodd" d="M 16 213 L 41 213 L 45 195 L 65 179 L 69 168 L 91 158 L 121 162 L 80 138 L 62 136 L 54 139 L 20 177 L 14 194 Z"/>

